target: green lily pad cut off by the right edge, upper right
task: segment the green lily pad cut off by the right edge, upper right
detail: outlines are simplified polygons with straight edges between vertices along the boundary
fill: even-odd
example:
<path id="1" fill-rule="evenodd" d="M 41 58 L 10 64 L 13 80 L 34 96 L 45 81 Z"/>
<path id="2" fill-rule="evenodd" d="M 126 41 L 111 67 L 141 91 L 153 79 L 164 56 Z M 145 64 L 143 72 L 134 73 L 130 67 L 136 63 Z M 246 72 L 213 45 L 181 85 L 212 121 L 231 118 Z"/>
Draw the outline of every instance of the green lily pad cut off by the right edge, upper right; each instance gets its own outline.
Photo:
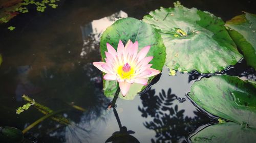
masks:
<path id="1" fill-rule="evenodd" d="M 226 22 L 228 32 L 243 52 L 247 65 L 256 69 L 256 15 L 245 13 Z"/>

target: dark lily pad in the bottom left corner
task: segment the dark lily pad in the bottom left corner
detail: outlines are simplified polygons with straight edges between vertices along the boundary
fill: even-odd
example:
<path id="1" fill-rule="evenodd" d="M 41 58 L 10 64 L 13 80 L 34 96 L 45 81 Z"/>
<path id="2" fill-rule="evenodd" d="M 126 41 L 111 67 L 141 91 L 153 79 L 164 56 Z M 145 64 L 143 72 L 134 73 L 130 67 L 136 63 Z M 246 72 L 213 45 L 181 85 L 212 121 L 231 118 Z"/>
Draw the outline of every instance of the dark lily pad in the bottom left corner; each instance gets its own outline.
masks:
<path id="1" fill-rule="evenodd" d="M 19 143 L 24 139 L 22 131 L 14 127 L 0 127 L 0 142 Z"/>

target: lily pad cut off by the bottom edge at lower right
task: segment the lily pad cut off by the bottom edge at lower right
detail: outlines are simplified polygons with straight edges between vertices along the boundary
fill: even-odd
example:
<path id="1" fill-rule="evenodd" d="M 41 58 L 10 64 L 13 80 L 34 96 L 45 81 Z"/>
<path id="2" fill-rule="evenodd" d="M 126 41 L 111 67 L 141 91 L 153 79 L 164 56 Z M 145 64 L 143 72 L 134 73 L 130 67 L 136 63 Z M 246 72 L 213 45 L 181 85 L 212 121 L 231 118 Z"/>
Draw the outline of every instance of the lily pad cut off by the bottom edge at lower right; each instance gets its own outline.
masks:
<path id="1" fill-rule="evenodd" d="M 256 129 L 243 127 L 233 122 L 228 122 L 208 126 L 190 137 L 190 140 L 193 143 L 252 143 L 256 140 Z"/>

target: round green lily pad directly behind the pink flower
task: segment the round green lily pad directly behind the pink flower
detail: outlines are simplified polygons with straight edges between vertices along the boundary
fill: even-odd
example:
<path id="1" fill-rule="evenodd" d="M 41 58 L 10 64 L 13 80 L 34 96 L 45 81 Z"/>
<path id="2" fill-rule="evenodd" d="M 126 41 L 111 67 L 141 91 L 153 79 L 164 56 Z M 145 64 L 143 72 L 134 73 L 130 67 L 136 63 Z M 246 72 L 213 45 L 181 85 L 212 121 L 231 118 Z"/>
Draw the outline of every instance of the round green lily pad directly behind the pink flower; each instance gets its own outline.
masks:
<path id="1" fill-rule="evenodd" d="M 151 45 L 150 51 L 147 56 L 154 56 L 150 64 L 152 68 L 162 70 L 165 62 L 165 46 L 163 44 L 160 34 L 150 24 L 144 23 L 135 18 L 122 18 L 117 20 L 114 24 L 108 27 L 101 36 L 100 52 L 104 61 L 106 43 L 110 43 L 116 50 L 119 40 L 124 44 L 131 39 L 132 42 L 139 42 L 139 50 L 147 45 Z M 153 77 L 148 80 L 150 82 Z M 104 81 L 104 94 L 106 97 L 114 97 L 117 90 L 117 81 Z M 119 97 L 127 100 L 134 99 L 138 92 L 144 89 L 145 86 L 133 83 L 129 92 L 125 97 L 119 94 Z"/>

